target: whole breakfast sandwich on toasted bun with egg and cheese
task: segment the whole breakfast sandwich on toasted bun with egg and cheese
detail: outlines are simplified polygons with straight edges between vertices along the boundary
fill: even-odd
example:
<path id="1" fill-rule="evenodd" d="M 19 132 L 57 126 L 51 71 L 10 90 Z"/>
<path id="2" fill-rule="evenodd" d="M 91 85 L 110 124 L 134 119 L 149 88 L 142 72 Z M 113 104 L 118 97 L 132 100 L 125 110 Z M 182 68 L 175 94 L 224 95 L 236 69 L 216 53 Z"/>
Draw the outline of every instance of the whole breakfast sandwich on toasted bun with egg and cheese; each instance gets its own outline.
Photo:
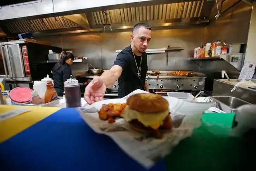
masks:
<path id="1" fill-rule="evenodd" d="M 168 101 L 153 93 L 138 93 L 127 99 L 127 106 L 121 116 L 131 129 L 150 133 L 162 138 L 161 130 L 171 130 L 172 121 Z"/>

